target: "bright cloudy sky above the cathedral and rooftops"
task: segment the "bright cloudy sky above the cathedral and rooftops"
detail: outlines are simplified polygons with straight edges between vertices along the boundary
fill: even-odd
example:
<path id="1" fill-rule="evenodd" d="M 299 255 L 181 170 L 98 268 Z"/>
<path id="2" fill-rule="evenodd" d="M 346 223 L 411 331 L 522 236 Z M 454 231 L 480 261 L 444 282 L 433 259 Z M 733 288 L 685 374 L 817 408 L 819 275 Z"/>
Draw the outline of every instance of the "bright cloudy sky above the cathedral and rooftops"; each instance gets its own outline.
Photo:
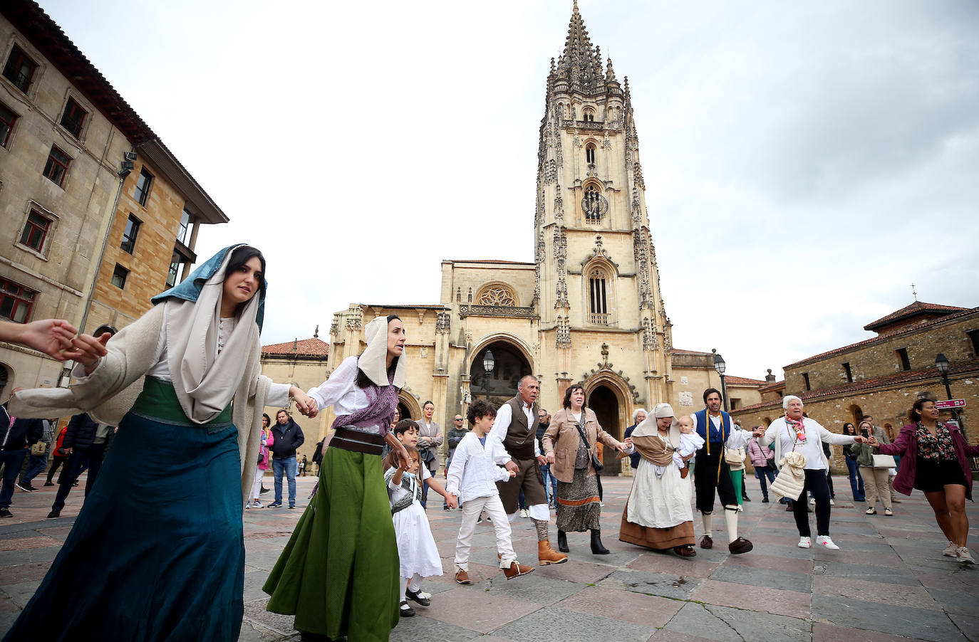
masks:
<path id="1" fill-rule="evenodd" d="M 571 0 L 42 0 L 268 260 L 262 343 L 530 261 Z M 979 3 L 581 0 L 629 76 L 676 347 L 763 379 L 979 305 Z"/>

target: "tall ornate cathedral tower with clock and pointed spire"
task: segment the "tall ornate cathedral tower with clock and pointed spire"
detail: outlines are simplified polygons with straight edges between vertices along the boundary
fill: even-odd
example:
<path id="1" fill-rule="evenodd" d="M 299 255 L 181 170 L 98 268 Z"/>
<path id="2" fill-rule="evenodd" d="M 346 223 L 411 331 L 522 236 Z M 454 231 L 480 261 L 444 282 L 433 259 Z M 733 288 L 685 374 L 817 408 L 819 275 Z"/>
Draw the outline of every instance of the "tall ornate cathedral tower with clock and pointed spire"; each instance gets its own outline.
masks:
<path id="1" fill-rule="evenodd" d="M 629 79 L 620 83 L 592 46 L 577 1 L 564 51 L 551 59 L 537 157 L 540 370 L 547 380 L 555 373 L 559 393 L 584 380 L 596 412 L 596 393 L 616 396 L 609 412 L 618 416 L 607 420 L 622 425 L 627 408 L 669 399 L 671 327 Z"/>

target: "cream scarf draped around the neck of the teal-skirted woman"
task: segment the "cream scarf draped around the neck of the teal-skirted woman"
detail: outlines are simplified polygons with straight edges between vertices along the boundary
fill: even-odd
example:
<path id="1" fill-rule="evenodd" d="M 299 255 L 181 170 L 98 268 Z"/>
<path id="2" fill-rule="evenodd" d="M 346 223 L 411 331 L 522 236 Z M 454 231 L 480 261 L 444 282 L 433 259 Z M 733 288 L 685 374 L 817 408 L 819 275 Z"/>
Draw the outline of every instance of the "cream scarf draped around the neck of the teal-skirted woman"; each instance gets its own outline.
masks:
<path id="1" fill-rule="evenodd" d="M 184 414 L 195 424 L 207 424 L 221 414 L 234 396 L 248 365 L 258 332 L 255 319 L 259 293 L 245 304 L 231 336 L 217 354 L 217 335 L 224 293 L 224 272 L 233 251 L 204 284 L 197 301 L 167 298 L 166 356 L 173 390 Z"/>

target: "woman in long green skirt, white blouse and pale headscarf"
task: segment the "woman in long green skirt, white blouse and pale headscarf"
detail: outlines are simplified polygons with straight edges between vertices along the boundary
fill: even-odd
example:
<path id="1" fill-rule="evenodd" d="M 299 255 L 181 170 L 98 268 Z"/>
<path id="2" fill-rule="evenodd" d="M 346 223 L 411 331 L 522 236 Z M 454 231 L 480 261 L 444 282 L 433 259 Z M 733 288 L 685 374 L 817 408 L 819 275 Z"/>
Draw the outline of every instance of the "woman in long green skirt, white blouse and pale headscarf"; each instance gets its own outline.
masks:
<path id="1" fill-rule="evenodd" d="M 295 615 L 302 639 L 386 641 L 401 601 L 395 527 L 381 467 L 387 443 L 407 466 L 390 432 L 404 386 L 404 325 L 392 314 L 364 328 L 367 347 L 309 390 L 337 419 L 314 496 L 264 590 L 268 610 Z"/>

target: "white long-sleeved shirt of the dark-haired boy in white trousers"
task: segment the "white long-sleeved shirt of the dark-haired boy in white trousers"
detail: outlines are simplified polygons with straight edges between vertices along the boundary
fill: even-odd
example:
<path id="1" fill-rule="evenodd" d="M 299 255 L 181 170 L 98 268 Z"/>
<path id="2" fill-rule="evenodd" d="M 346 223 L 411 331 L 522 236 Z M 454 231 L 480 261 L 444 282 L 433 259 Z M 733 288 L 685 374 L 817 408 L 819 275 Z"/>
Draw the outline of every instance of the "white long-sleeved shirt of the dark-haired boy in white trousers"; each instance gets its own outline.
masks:
<path id="1" fill-rule="evenodd" d="M 487 435 L 484 446 L 475 433 L 467 433 L 452 455 L 445 490 L 462 502 L 498 494 L 496 481 L 510 479 L 510 472 L 502 468 L 508 461 L 510 455 L 499 439 Z"/>

